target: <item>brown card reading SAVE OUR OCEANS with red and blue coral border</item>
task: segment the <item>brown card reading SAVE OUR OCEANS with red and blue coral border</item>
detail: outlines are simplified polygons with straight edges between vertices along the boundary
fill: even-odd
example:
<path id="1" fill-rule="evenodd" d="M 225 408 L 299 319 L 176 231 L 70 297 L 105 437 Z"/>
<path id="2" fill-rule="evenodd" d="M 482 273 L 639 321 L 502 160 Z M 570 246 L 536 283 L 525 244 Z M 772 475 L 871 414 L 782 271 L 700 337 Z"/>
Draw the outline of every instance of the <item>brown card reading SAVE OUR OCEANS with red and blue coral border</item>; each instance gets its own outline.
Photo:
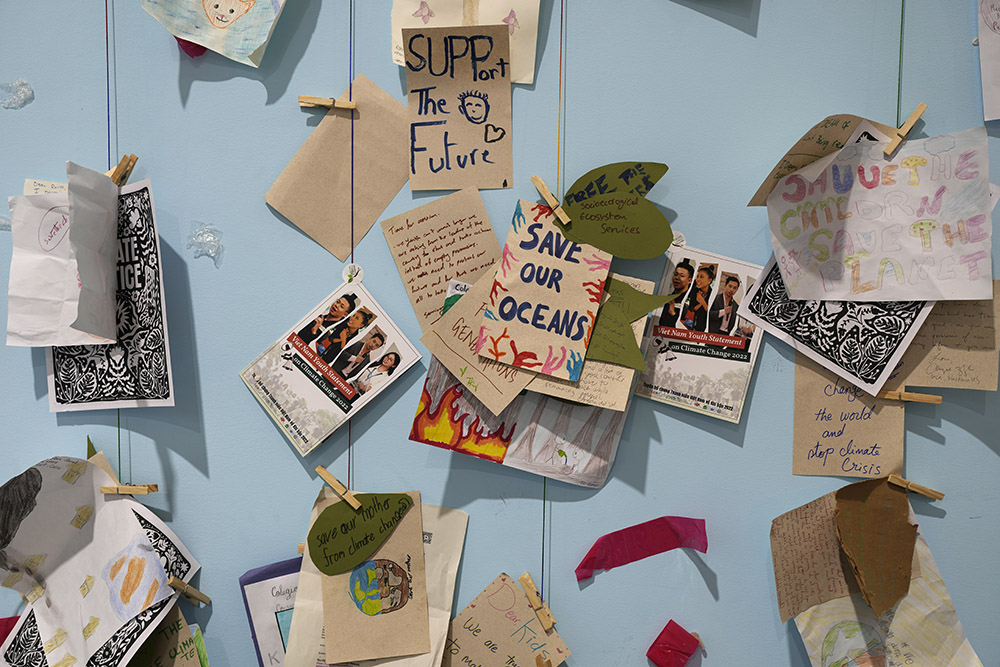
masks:
<path id="1" fill-rule="evenodd" d="M 476 346 L 485 359 L 576 382 L 611 253 L 570 241 L 554 220 L 549 207 L 518 202 Z"/>

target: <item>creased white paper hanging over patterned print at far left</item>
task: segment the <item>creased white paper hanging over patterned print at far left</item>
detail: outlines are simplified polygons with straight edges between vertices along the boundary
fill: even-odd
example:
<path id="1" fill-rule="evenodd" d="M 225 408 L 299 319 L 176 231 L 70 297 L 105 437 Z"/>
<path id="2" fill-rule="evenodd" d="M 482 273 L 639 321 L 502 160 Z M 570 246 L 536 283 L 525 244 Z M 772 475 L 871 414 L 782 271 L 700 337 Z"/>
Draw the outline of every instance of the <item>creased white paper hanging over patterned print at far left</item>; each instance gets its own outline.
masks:
<path id="1" fill-rule="evenodd" d="M 13 253 L 7 345 L 115 341 L 115 290 L 108 278 L 114 277 L 118 188 L 104 174 L 72 162 L 66 173 L 67 192 L 8 200 Z"/>

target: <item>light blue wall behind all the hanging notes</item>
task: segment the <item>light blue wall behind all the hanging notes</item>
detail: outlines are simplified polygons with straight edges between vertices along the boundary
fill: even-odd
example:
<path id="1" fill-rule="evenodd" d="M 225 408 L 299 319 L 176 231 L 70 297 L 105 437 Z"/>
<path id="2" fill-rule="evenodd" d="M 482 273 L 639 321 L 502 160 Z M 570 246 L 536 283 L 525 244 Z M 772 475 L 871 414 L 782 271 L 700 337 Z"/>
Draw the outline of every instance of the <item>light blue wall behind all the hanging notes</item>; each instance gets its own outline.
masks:
<path id="1" fill-rule="evenodd" d="M 390 4 L 356 3 L 356 69 L 405 101 L 389 57 Z M 745 203 L 785 149 L 830 113 L 896 120 L 899 2 L 567 4 L 565 175 L 666 162 L 654 199 L 694 246 L 764 263 L 766 214 Z M 926 102 L 918 129 L 927 134 L 982 122 L 977 3 L 946 4 L 906 2 L 902 110 Z M 140 156 L 133 179 L 152 178 L 178 404 L 121 411 L 122 477 L 161 484 L 149 504 L 201 559 L 200 587 L 214 603 L 183 609 L 205 628 L 215 667 L 254 663 L 237 577 L 294 555 L 320 487 L 317 464 L 346 476 L 347 428 L 300 459 L 237 373 L 340 281 L 342 264 L 272 214 L 264 192 L 319 119 L 296 95 L 337 95 L 347 84 L 348 7 L 289 0 L 254 70 L 211 53 L 188 59 L 137 0 L 117 0 L 106 69 L 103 6 L 0 3 L 0 82 L 23 76 L 36 92 L 23 110 L 0 109 L 0 192 L 20 192 L 29 176 L 61 179 L 67 159 L 106 168 L 109 144 L 112 155 Z M 559 11 L 542 0 L 536 83 L 514 90 L 517 185 L 483 193 L 498 234 L 514 200 L 535 197 L 532 174 L 555 180 Z M 385 215 L 426 200 L 406 188 Z M 221 269 L 185 248 L 192 221 L 224 231 Z M 356 259 L 417 342 L 377 226 Z M 0 242 L 0 266 L 9 260 Z M 618 268 L 658 280 L 663 261 Z M 544 577 L 576 667 L 646 664 L 671 618 L 701 634 L 706 665 L 807 665 L 798 633 L 778 618 L 768 530 L 843 480 L 791 475 L 793 363 L 786 346 L 766 341 L 739 426 L 637 399 L 611 479 L 593 491 L 409 442 L 425 361 L 354 419 L 354 486 L 420 489 L 426 502 L 469 512 L 457 608 L 499 571 L 530 570 Z M 0 371 L 0 480 L 48 456 L 83 455 L 88 433 L 117 465 L 115 412 L 49 414 L 37 351 L 0 348 Z M 973 646 L 997 665 L 1000 399 L 942 393 L 941 406 L 907 407 L 905 472 L 948 494 L 914 508 Z M 573 568 L 597 536 L 664 514 L 705 518 L 708 554 L 664 554 L 577 586 Z M 15 612 L 11 596 L 0 601 Z"/>

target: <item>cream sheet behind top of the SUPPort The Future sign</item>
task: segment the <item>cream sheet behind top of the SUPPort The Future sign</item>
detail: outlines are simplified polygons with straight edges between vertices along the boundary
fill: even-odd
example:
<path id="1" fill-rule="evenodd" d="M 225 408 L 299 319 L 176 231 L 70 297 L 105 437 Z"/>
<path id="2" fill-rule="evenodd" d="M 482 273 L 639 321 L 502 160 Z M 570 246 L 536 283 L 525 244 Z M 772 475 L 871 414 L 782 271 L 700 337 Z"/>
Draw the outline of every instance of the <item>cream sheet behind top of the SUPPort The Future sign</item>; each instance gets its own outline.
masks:
<path id="1" fill-rule="evenodd" d="M 505 24 L 512 83 L 534 83 L 539 0 L 393 0 L 392 62 L 406 65 L 403 28 Z"/>

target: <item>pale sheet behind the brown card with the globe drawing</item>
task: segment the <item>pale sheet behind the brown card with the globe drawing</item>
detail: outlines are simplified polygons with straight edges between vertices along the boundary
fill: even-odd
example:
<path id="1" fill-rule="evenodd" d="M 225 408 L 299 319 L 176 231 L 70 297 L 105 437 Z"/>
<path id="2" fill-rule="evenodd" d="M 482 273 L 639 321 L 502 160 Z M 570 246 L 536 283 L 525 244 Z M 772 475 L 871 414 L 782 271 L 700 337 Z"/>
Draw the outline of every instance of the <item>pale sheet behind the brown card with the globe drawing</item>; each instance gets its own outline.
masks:
<path id="1" fill-rule="evenodd" d="M 317 505 L 334 498 L 326 487 L 316 499 Z M 461 510 L 421 504 L 424 524 L 424 569 L 427 578 L 427 614 L 430 626 L 431 650 L 422 655 L 369 660 L 364 665 L 375 667 L 437 667 L 444 656 L 451 623 L 452 601 L 455 597 L 455 577 L 462 560 L 465 530 L 469 515 Z M 312 525 L 317 512 L 309 519 Z M 323 639 L 322 577 L 312 559 L 302 558 L 299 589 L 295 598 L 295 613 L 289 633 L 284 667 L 326 667 Z M 344 663 L 339 667 L 354 667 Z"/>

